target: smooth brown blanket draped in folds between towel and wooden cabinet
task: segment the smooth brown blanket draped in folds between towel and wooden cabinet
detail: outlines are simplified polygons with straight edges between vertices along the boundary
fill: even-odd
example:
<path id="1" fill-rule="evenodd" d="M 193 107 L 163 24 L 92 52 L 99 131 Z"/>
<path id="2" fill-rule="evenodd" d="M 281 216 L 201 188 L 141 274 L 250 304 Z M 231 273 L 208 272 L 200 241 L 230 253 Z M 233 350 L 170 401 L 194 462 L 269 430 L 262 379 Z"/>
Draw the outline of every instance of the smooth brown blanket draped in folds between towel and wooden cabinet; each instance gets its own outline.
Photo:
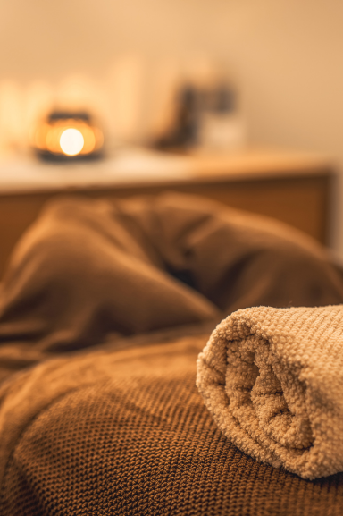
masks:
<path id="1" fill-rule="evenodd" d="M 175 193 L 57 199 L 19 242 L 0 289 L 0 381 L 109 334 L 340 302 L 325 251 L 284 224 Z"/>

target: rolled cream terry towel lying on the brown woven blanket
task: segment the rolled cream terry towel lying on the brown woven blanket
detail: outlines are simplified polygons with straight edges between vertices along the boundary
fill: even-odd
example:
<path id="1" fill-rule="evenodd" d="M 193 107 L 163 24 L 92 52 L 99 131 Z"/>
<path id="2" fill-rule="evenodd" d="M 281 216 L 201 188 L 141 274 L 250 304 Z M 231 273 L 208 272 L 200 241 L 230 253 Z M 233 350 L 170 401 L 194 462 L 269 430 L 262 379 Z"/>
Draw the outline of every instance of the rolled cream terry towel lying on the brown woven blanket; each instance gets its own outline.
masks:
<path id="1" fill-rule="evenodd" d="M 197 387 L 258 461 L 308 479 L 343 471 L 343 305 L 234 312 L 198 357 Z"/>

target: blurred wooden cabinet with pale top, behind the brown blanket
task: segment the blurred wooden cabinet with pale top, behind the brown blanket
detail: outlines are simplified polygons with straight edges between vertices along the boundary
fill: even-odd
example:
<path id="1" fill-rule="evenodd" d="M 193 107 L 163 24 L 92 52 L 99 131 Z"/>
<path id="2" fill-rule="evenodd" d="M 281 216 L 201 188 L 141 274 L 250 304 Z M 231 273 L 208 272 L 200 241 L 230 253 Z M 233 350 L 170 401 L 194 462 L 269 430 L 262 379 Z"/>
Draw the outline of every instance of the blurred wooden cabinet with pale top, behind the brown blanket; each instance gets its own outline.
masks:
<path id="1" fill-rule="evenodd" d="M 0 277 L 16 241 L 56 195 L 197 194 L 272 216 L 328 244 L 334 177 L 328 159 L 272 149 L 177 156 L 125 148 L 72 165 L 8 156 L 0 160 Z"/>

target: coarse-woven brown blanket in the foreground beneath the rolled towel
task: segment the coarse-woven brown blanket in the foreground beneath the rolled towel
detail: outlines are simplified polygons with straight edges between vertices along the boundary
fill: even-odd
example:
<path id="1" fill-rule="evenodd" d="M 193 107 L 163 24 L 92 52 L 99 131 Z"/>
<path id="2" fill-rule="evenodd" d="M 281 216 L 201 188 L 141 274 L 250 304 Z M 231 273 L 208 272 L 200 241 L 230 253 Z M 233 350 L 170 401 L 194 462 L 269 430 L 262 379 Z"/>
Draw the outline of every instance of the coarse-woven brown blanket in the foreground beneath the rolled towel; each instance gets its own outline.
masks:
<path id="1" fill-rule="evenodd" d="M 341 516 L 343 474 L 304 480 L 222 435 L 195 385 L 206 338 L 83 351 L 5 382 L 1 515 Z"/>

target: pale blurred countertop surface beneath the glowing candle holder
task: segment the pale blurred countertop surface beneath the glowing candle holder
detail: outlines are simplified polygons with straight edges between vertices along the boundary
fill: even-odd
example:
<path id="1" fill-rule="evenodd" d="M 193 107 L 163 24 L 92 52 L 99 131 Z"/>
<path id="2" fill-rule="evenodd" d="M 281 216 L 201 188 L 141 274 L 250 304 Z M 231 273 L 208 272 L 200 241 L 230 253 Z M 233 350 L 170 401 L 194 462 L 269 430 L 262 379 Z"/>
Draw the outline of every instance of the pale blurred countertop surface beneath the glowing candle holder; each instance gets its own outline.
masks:
<path id="1" fill-rule="evenodd" d="M 34 156 L 0 156 L 0 194 L 124 187 L 182 182 L 247 181 L 264 177 L 330 173 L 324 156 L 250 148 L 230 154 L 172 155 L 121 148 L 104 159 L 47 163 Z"/>

